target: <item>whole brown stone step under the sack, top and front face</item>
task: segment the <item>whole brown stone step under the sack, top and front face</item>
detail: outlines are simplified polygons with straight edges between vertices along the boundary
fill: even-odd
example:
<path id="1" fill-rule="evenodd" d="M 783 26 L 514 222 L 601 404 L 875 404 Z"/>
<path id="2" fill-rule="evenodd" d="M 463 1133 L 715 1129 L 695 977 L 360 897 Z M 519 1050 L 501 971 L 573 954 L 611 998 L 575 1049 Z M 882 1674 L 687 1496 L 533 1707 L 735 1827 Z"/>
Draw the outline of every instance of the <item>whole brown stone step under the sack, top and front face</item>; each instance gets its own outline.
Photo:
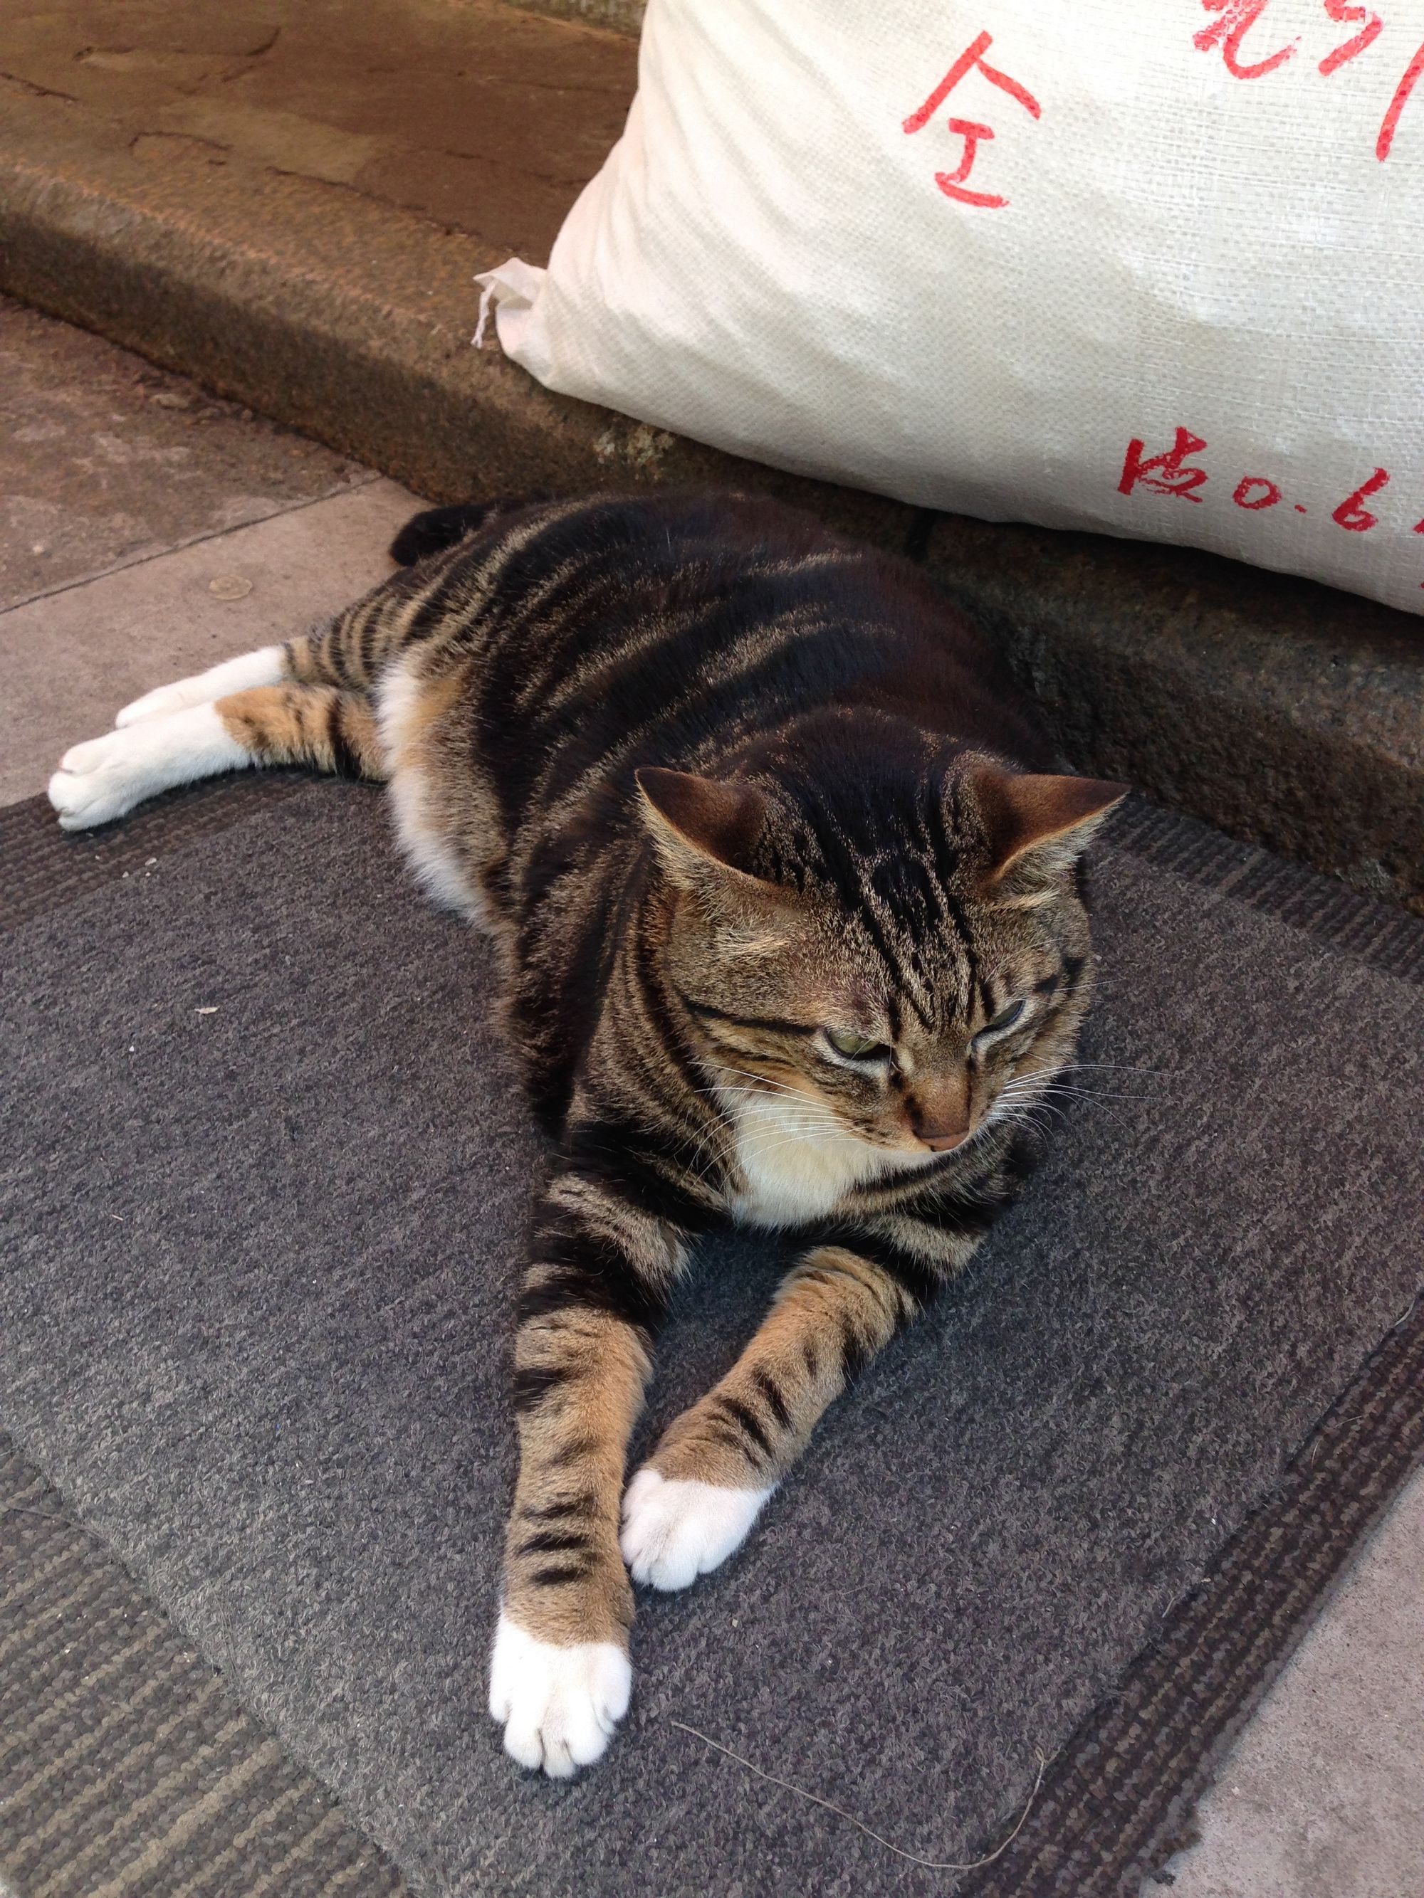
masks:
<path id="1" fill-rule="evenodd" d="M 927 560 L 1063 752 L 1424 911 L 1424 626 L 1173 549 L 930 516 L 554 397 L 475 351 L 636 47 L 499 0 L 11 0 L 0 288 L 435 499 L 756 486 Z"/>

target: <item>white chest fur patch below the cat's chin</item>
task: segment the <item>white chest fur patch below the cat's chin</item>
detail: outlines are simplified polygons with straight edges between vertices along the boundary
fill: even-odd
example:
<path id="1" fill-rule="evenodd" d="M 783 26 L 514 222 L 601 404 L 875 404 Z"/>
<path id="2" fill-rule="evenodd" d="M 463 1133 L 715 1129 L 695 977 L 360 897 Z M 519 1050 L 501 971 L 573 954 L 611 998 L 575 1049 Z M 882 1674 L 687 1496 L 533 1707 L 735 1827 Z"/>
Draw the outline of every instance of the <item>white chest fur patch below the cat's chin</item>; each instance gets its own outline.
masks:
<path id="1" fill-rule="evenodd" d="M 748 1226 L 801 1226 L 824 1219 L 854 1186 L 921 1158 L 841 1133 L 830 1110 L 811 1103 L 739 1095 L 725 1097 L 723 1105 L 737 1127 L 742 1173 L 731 1213 Z M 930 1162 L 934 1154 L 923 1158 Z"/>

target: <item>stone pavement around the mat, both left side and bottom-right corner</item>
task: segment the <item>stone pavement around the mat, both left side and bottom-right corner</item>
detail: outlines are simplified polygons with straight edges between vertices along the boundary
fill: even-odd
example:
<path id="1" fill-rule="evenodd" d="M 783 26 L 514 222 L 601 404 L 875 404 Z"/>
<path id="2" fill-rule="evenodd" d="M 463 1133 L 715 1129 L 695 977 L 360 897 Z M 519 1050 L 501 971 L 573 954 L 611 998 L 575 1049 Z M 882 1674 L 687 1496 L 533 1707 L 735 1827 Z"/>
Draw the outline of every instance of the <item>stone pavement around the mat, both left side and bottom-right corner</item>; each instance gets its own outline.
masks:
<path id="1" fill-rule="evenodd" d="M 137 691 L 346 604 L 420 505 L 4 300 L 0 374 L 0 803 Z M 1173 1892 L 1420 1898 L 1422 1573 L 1418 1479 L 1225 1763 Z"/>

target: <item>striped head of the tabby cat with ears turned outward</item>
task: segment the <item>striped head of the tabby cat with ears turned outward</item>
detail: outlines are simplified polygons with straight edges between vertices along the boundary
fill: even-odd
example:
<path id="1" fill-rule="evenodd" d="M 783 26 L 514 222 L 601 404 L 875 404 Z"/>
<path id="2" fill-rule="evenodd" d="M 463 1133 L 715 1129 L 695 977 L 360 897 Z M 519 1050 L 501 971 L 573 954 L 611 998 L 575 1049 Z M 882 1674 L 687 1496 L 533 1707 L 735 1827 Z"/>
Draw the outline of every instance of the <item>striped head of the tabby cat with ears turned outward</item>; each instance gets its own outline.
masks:
<path id="1" fill-rule="evenodd" d="M 1018 1118 L 1088 1000 L 1078 856 L 1122 784 L 978 754 L 778 774 L 638 772 L 665 970 L 729 1105 L 928 1162 Z M 769 1108 L 771 1103 L 758 1103 Z"/>

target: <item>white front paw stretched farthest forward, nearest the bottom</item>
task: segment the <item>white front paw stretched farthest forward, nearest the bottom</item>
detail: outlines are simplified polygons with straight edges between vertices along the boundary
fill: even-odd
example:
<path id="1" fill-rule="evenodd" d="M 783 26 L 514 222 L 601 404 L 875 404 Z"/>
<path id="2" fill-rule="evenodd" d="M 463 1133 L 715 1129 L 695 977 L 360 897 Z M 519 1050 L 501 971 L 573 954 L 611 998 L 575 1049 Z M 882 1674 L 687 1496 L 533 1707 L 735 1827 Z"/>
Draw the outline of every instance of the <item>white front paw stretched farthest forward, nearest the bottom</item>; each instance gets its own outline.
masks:
<path id="1" fill-rule="evenodd" d="M 499 1615 L 490 1655 L 490 1712 L 505 1752 L 549 1778 L 571 1778 L 608 1750 L 628 1712 L 632 1666 L 613 1642 L 554 1647 Z"/>

